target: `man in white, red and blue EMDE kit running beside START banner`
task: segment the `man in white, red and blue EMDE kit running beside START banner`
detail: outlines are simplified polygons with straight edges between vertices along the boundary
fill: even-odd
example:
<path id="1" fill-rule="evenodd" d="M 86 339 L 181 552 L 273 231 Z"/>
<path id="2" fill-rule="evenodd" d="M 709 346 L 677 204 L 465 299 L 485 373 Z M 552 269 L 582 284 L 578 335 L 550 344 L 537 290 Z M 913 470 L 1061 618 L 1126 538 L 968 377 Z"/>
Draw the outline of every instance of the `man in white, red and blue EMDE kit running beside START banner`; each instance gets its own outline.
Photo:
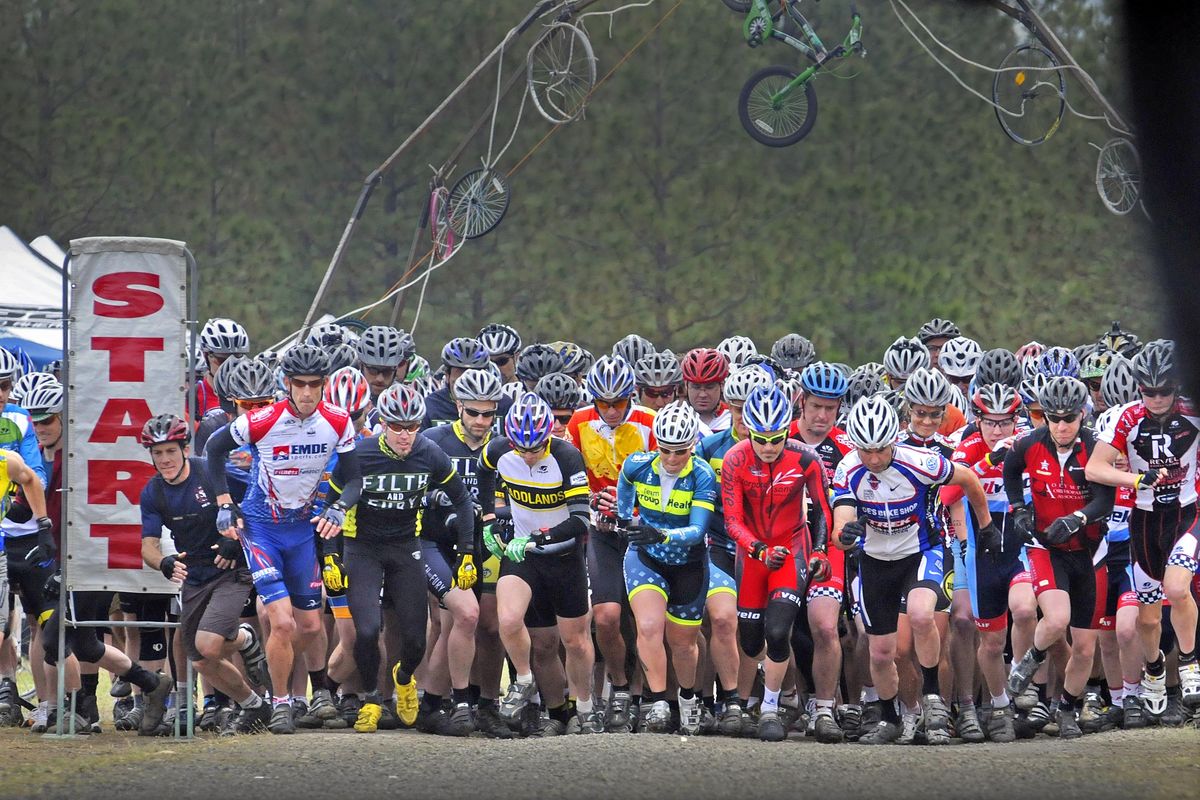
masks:
<path id="1" fill-rule="evenodd" d="M 238 417 L 212 434 L 205 452 L 220 504 L 217 529 L 242 542 L 271 626 L 266 655 L 274 709 L 268 728 L 289 734 L 295 732 L 289 692 L 295 650 L 302 652 L 322 628 L 312 524 L 323 539 L 336 536 L 358 501 L 361 477 L 350 416 L 322 398 L 328 374 L 324 351 L 298 344 L 283 354 L 280 368 L 287 398 Z M 239 507 L 229 495 L 226 462 L 245 445 L 253 447 L 253 480 Z M 334 452 L 338 459 L 332 479 L 342 497 L 313 518 L 313 498 Z"/>

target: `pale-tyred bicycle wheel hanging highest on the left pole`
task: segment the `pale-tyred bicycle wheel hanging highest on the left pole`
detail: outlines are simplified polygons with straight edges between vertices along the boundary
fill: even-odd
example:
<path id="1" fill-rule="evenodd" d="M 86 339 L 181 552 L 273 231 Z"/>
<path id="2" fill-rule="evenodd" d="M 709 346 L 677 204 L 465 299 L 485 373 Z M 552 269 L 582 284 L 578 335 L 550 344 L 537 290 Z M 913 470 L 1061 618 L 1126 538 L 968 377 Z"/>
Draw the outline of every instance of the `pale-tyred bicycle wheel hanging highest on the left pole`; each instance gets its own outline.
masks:
<path id="1" fill-rule="evenodd" d="M 569 23 L 547 28 L 526 56 L 526 84 L 534 107 L 548 122 L 577 119 L 596 84 L 588 35 Z"/>

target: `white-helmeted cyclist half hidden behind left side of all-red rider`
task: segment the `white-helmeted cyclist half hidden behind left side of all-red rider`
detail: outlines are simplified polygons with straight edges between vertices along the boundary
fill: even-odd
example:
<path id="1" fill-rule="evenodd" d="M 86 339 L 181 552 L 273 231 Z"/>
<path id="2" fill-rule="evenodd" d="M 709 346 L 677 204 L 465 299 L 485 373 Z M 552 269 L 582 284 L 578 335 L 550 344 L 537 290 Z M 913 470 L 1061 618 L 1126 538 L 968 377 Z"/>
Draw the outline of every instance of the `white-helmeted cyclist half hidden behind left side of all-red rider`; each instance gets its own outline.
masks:
<path id="1" fill-rule="evenodd" d="M 731 425 L 725 431 L 704 437 L 696 447 L 696 456 L 707 462 L 716 474 L 718 486 L 725 453 L 748 435 L 742 419 L 746 397 L 757 386 L 770 385 L 770 374 L 757 366 L 742 367 L 725 379 L 725 403 L 730 409 Z M 708 654 L 720 685 L 716 697 L 721 704 L 718 729 L 722 735 L 738 736 L 742 734 L 742 717 L 746 711 L 739 698 L 749 697 L 757 662 L 749 656 L 740 656 L 738 648 L 738 589 L 734 579 L 737 543 L 725 531 L 720 494 L 708 518 L 708 597 L 704 609 L 712 628 Z"/>

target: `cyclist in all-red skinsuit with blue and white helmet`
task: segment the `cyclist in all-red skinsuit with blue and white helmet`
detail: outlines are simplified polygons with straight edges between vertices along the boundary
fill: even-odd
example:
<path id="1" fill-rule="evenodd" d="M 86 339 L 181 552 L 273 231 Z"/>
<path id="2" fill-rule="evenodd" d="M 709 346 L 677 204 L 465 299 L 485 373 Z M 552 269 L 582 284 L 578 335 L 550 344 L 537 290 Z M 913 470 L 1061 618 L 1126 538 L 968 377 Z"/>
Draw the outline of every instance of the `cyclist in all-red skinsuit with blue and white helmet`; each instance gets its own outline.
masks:
<path id="1" fill-rule="evenodd" d="M 782 741 L 787 729 L 779 716 L 779 693 L 791 660 L 792 625 L 809 579 L 829 577 L 829 501 L 821 459 L 787 438 L 792 408 L 784 392 L 754 389 L 742 417 L 749 440 L 733 445 L 721 464 L 725 529 L 738 545 L 738 638 L 751 658 L 762 656 L 766 643 L 758 738 Z M 805 504 L 811 505 L 811 527 Z M 833 699 L 818 702 L 827 704 L 822 708 L 828 708 L 832 722 Z"/>

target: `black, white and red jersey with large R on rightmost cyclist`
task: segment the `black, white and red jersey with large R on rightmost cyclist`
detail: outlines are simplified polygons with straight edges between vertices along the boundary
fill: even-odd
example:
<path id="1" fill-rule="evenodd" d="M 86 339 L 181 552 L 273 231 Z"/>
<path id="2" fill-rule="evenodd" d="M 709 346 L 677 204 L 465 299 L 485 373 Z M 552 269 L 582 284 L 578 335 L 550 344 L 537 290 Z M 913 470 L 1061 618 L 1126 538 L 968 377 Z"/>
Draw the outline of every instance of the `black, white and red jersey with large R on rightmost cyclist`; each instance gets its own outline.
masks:
<path id="1" fill-rule="evenodd" d="M 1151 417 L 1141 401 L 1134 401 L 1109 417 L 1098 438 L 1126 455 L 1132 473 L 1166 469 L 1164 480 L 1138 489 L 1136 504 L 1142 511 L 1152 511 L 1156 503 L 1187 506 L 1196 501 L 1200 415 L 1190 399 L 1178 398 L 1160 420 Z"/>

